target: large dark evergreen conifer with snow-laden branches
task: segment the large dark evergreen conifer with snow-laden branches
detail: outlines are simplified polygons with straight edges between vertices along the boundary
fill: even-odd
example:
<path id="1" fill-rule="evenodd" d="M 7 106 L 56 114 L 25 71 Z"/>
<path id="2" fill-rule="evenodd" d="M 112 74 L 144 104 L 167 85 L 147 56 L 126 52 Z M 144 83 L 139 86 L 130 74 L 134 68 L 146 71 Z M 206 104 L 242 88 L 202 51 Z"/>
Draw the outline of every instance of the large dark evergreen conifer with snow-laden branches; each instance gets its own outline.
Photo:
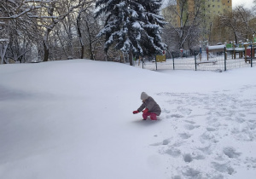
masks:
<path id="1" fill-rule="evenodd" d="M 98 0 L 96 17 L 106 14 L 105 26 L 98 36 L 105 36 L 105 51 L 115 49 L 132 55 L 160 55 L 166 49 L 160 37 L 166 24 L 159 14 L 162 0 Z M 131 63 L 131 61 L 130 61 Z"/>

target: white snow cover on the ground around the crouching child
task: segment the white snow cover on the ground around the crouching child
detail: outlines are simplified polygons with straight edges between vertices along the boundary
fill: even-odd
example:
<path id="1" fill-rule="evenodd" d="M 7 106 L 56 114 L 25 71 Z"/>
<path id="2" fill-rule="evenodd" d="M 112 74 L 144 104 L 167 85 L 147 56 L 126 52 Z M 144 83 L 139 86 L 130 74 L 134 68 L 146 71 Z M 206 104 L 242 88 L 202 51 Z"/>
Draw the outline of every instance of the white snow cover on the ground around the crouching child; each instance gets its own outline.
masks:
<path id="1" fill-rule="evenodd" d="M 0 178 L 254 179 L 255 67 L 0 66 Z M 143 121 L 142 91 L 162 108 Z"/>

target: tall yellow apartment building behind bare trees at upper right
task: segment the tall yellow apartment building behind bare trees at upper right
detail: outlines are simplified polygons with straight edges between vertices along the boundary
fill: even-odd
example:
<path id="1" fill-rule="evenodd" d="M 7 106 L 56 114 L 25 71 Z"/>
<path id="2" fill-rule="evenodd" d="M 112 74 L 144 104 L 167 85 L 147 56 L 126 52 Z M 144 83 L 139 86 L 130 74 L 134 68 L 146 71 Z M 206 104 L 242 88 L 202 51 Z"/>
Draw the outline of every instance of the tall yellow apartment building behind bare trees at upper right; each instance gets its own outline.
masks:
<path id="1" fill-rule="evenodd" d="M 180 0 L 177 0 L 172 5 L 162 9 L 162 14 L 172 26 L 181 27 L 185 17 L 189 16 L 190 24 L 192 23 L 195 15 L 199 15 L 197 10 L 200 7 L 200 17 L 197 16 L 196 18 L 201 21 L 202 40 L 211 40 L 212 26 L 216 15 L 232 11 L 232 0 L 187 0 L 185 2 L 182 4 Z"/>

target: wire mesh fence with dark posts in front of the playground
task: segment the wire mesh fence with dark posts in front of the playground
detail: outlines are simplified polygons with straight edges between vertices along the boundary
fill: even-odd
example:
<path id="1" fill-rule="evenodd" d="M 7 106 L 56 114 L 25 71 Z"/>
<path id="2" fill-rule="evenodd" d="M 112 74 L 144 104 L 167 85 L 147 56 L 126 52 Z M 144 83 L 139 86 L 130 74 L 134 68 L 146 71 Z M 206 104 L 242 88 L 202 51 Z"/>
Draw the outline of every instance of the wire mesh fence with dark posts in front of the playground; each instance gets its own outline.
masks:
<path id="1" fill-rule="evenodd" d="M 256 66 L 255 57 L 251 54 L 245 60 L 244 57 L 236 58 L 232 51 L 219 51 L 217 53 L 208 53 L 195 51 L 194 55 L 188 57 L 176 58 L 172 56 L 165 62 L 153 61 L 137 61 L 135 66 L 139 66 L 149 70 L 195 70 L 195 71 L 217 71 L 222 72 L 234 68 L 253 67 Z M 182 55 L 181 55 L 182 56 Z"/>

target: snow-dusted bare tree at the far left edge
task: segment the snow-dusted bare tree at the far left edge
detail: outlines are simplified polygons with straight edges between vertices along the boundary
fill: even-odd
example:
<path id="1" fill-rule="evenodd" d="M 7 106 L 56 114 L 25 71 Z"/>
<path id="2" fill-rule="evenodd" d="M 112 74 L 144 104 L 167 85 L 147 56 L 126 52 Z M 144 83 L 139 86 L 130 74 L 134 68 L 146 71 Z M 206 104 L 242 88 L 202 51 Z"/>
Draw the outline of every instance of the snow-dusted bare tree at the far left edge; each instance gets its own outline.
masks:
<path id="1" fill-rule="evenodd" d="M 25 51 L 22 50 L 22 48 L 20 49 L 16 47 L 14 52 L 9 45 L 16 43 L 16 45 L 20 46 L 18 41 L 20 41 L 20 38 L 24 39 L 23 33 L 20 32 L 26 28 L 26 25 L 28 24 L 28 17 L 38 18 L 38 16 L 35 15 L 35 12 L 38 9 L 42 9 L 44 4 L 49 2 L 51 1 L 5 0 L 0 3 L 0 39 L 2 42 L 0 45 L 2 49 L 0 64 L 8 62 L 8 58 L 12 58 L 14 61 L 17 61 L 20 57 L 24 57 L 27 52 L 27 49 L 25 48 L 27 47 L 25 41 L 22 43 L 22 48 Z M 28 34 L 28 32 L 28 29 L 24 31 L 26 34 Z M 18 33 L 19 36 L 17 35 Z M 14 46 L 12 46 L 12 48 L 14 48 Z M 8 54 L 9 57 L 6 57 L 6 54 Z M 3 61 L 4 58 L 5 61 Z"/>

